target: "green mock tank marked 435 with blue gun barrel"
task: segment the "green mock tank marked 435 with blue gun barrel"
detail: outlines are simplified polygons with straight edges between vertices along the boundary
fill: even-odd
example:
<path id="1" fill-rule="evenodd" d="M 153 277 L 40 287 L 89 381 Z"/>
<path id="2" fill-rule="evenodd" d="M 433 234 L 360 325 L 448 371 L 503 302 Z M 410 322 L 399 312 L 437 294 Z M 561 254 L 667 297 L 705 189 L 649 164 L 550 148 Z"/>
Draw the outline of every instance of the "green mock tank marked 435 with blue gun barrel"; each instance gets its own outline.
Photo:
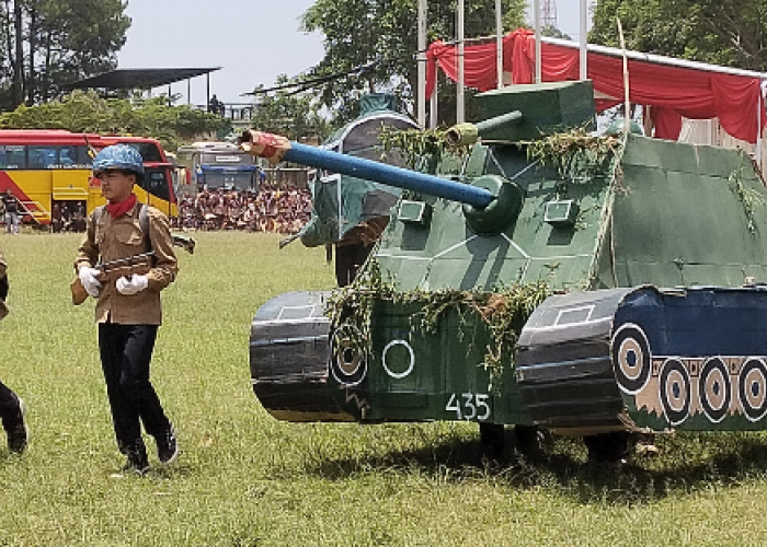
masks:
<path id="1" fill-rule="evenodd" d="M 351 286 L 257 311 L 263 406 L 284 420 L 469 420 L 619 444 L 767 428 L 767 190 L 751 158 L 592 136 L 589 82 L 479 100 L 486 119 L 448 132 L 478 142 L 434 175 L 245 136 L 272 161 L 405 189 Z"/>

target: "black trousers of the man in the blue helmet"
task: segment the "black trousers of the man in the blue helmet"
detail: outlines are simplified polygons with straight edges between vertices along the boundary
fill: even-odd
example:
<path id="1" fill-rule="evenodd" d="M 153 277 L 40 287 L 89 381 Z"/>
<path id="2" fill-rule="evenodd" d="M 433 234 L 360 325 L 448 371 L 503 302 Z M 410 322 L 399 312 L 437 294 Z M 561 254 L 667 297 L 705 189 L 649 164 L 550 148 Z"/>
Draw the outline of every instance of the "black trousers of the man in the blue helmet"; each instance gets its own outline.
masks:
<path id="1" fill-rule="evenodd" d="M 101 365 L 121 452 L 142 445 L 141 423 L 152 437 L 168 431 L 170 421 L 149 381 L 157 325 L 99 324 Z"/>

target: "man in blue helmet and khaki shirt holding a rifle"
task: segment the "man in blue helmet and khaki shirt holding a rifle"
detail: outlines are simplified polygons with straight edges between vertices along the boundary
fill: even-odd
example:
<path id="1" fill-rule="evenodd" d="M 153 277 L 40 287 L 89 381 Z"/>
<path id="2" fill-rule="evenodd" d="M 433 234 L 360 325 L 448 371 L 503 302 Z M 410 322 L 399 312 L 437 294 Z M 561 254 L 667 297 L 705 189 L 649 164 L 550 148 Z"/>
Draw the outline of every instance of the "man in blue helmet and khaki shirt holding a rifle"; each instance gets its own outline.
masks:
<path id="1" fill-rule="evenodd" d="M 106 147 L 93 160 L 93 176 L 107 203 L 88 217 L 75 269 L 96 299 L 99 350 L 117 447 L 127 456 L 125 470 L 144 474 L 149 459 L 141 424 L 154 438 L 162 464 L 179 455 L 175 430 L 149 380 L 162 323 L 160 292 L 175 279 L 178 261 L 168 218 L 133 193 L 144 177 L 141 155 L 125 144 Z M 103 275 L 94 268 L 150 252 L 141 272 Z"/>

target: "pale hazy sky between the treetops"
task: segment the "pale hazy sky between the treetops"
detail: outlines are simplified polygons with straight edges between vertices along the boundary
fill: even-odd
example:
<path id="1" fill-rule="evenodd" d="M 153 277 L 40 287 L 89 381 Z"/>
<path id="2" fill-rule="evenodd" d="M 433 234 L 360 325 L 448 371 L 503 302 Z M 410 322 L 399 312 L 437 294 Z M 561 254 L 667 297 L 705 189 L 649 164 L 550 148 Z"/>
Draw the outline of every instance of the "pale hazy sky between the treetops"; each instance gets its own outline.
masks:
<path id="1" fill-rule="evenodd" d="M 126 13 L 133 22 L 127 42 L 117 55 L 118 68 L 220 67 L 210 73 L 210 94 L 225 103 L 250 103 L 242 93 L 257 85 L 270 88 L 279 74 L 296 75 L 322 60 L 322 34 L 298 30 L 299 18 L 313 3 L 128 0 Z M 528 3 L 531 5 L 533 1 Z M 573 39 L 580 39 L 580 3 L 556 0 L 559 28 Z M 168 86 L 153 93 L 168 93 Z M 207 79 L 194 78 L 188 86 L 186 81 L 174 83 L 171 93 L 181 95 L 183 103 L 204 105 Z"/>

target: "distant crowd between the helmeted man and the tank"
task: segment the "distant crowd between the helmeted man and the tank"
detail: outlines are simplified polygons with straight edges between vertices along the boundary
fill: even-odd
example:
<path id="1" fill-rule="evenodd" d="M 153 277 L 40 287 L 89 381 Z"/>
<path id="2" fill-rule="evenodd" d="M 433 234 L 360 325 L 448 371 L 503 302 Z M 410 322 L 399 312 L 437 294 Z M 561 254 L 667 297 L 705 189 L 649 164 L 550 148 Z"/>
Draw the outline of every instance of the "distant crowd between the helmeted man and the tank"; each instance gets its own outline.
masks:
<path id="1" fill-rule="evenodd" d="M 295 234 L 311 218 L 311 194 L 262 185 L 250 190 L 207 190 L 179 197 L 175 229 L 245 230 Z"/>

